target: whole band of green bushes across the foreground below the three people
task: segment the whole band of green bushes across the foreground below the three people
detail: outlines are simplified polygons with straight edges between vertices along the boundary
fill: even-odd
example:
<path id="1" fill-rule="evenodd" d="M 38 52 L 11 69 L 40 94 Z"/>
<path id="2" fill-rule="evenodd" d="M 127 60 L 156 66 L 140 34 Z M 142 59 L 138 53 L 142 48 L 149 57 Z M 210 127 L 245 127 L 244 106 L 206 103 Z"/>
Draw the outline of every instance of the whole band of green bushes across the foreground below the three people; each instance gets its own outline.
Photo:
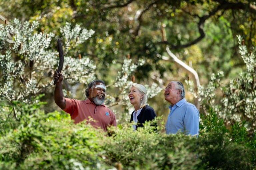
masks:
<path id="1" fill-rule="evenodd" d="M 256 168 L 256 140 L 244 134 L 242 124 L 227 129 L 214 112 L 201 118 L 198 138 L 166 135 L 159 132 L 161 124 L 156 131 L 149 123 L 137 131 L 130 124 L 112 127 L 108 136 L 84 122 L 74 124 L 66 113 L 34 110 L 19 123 L 1 120 L 8 130 L 1 133 L 0 169 Z"/>

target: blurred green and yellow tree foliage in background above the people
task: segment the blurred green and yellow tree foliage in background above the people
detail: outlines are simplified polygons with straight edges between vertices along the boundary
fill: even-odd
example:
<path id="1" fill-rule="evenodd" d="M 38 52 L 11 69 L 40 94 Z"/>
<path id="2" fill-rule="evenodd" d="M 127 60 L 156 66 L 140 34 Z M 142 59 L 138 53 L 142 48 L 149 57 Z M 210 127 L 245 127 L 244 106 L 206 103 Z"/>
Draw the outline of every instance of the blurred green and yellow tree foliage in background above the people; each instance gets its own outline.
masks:
<path id="1" fill-rule="evenodd" d="M 67 56 L 87 56 L 96 66 L 95 78 L 110 85 L 129 54 L 134 63 L 139 59 L 146 61 L 133 73 L 136 83 L 155 82 L 164 87 L 171 80 L 189 79 L 172 61 L 163 62 L 166 45 L 197 71 L 201 85 L 207 84 L 211 75 L 220 70 L 226 81 L 236 77 L 245 68 L 236 35 L 245 39 L 248 48 L 256 45 L 255 6 L 254 1 L 244 0 L 3 0 L 0 14 L 8 21 L 14 18 L 21 22 L 38 21 L 37 31 L 52 32 L 55 40 L 65 38 L 60 28 L 67 22 L 72 28 L 78 24 L 94 30 L 88 41 L 76 47 L 71 45 Z M 51 41 L 50 47 L 56 49 L 56 41 Z M 84 85 L 77 88 L 79 92 L 75 90 L 73 97 L 83 99 L 84 92 L 80 91 Z M 189 94 L 187 97 L 193 103 L 193 97 Z M 52 103 L 51 95 L 45 95 L 44 99 L 49 105 Z M 150 100 L 158 115 L 167 115 L 168 109 L 163 108 L 168 103 L 158 107 L 163 102 L 161 94 Z M 47 111 L 56 108 L 52 104 Z"/>

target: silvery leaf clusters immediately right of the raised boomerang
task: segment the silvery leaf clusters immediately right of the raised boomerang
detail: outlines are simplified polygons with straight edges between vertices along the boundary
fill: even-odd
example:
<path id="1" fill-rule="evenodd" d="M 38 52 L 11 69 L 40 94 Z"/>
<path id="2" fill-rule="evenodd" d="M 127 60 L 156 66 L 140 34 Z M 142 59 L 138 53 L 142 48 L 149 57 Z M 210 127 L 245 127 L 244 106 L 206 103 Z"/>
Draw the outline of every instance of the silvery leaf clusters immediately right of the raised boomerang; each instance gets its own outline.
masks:
<path id="1" fill-rule="evenodd" d="M 92 80 L 95 79 L 94 70 L 96 66 L 88 57 L 81 57 L 81 59 L 72 58 L 67 55 L 69 49 L 82 44 L 86 40 L 88 40 L 95 31 L 82 29 L 80 25 L 76 24 L 76 26 L 72 29 L 70 23 L 66 23 L 64 28 L 60 29 L 62 37 L 65 37 L 64 43 L 65 46 L 63 48 L 64 52 L 64 65 L 63 65 L 63 75 L 65 75 L 65 80 L 69 84 L 83 83 L 88 84 Z"/>

